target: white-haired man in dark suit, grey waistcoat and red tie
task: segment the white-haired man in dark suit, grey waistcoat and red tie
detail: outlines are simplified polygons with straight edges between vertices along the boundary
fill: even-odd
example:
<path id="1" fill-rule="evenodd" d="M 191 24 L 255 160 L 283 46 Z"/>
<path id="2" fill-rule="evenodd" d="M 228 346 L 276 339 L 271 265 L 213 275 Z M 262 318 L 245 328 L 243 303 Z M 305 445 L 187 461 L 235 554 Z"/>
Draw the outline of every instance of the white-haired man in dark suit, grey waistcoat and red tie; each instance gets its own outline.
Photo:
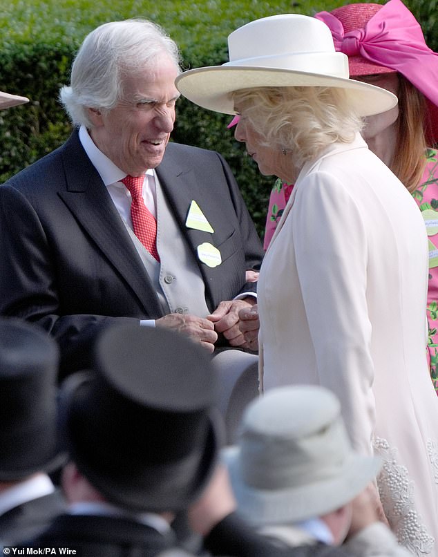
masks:
<path id="1" fill-rule="evenodd" d="M 73 135 L 0 188 L 0 312 L 59 341 L 61 375 L 115 320 L 179 330 L 231 375 L 228 397 L 251 366 L 256 389 L 238 312 L 263 249 L 225 160 L 168 144 L 178 56 L 149 21 L 86 37 L 61 89 Z"/>

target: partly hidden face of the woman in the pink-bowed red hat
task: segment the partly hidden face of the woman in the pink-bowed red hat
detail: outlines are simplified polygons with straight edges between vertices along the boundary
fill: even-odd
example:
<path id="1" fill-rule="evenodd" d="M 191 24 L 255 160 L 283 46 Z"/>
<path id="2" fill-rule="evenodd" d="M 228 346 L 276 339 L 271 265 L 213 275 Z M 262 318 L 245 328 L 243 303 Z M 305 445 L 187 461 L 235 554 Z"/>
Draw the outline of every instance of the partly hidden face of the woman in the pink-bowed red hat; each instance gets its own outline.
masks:
<path id="1" fill-rule="evenodd" d="M 356 81 L 369 83 L 371 85 L 376 85 L 386 91 L 390 91 L 397 95 L 399 92 L 399 77 L 397 73 L 381 73 L 374 75 L 363 75 L 361 77 L 354 77 Z M 383 132 L 396 133 L 395 123 L 399 117 L 399 106 L 398 104 L 394 108 L 390 108 L 389 111 L 382 112 L 381 114 L 375 114 L 372 116 L 367 116 L 365 118 L 365 127 L 362 130 L 362 135 L 365 141 L 372 138 L 376 138 Z"/>

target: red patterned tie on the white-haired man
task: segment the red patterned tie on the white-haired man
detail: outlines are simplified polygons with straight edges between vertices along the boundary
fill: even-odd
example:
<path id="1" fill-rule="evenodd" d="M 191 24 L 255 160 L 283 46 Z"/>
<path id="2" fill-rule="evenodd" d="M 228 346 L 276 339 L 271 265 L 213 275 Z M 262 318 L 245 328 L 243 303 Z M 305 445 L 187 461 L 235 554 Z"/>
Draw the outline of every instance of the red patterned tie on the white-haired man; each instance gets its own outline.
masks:
<path id="1" fill-rule="evenodd" d="M 157 221 L 151 211 L 144 205 L 142 189 L 144 176 L 126 176 L 120 180 L 131 192 L 131 218 L 135 236 L 146 247 L 148 252 L 160 261 L 157 251 Z"/>

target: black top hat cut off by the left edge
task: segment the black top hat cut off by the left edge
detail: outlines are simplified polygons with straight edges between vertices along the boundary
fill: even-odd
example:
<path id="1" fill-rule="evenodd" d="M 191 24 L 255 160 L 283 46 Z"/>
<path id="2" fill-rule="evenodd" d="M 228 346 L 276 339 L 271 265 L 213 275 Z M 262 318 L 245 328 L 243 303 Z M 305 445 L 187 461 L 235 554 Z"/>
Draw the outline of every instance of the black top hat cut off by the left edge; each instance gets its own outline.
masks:
<path id="1" fill-rule="evenodd" d="M 61 464 L 57 455 L 58 349 L 37 325 L 0 318 L 0 481 Z"/>

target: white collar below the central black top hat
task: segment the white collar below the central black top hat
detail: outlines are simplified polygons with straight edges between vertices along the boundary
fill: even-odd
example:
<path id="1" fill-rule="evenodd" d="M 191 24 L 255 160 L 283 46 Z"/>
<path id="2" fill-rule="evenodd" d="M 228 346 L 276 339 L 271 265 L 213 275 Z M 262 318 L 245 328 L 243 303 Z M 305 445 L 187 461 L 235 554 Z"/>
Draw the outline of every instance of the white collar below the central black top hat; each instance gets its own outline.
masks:
<path id="1" fill-rule="evenodd" d="M 166 534 L 171 530 L 169 522 L 164 520 L 162 516 L 155 513 L 134 513 L 127 511 L 126 509 L 121 509 L 116 505 L 108 502 L 77 502 L 70 504 L 68 507 L 70 514 L 80 514 L 80 515 L 93 515 L 93 516 L 117 516 L 120 518 L 129 518 L 135 522 L 141 522 L 146 526 L 160 532 L 160 534 Z"/>

